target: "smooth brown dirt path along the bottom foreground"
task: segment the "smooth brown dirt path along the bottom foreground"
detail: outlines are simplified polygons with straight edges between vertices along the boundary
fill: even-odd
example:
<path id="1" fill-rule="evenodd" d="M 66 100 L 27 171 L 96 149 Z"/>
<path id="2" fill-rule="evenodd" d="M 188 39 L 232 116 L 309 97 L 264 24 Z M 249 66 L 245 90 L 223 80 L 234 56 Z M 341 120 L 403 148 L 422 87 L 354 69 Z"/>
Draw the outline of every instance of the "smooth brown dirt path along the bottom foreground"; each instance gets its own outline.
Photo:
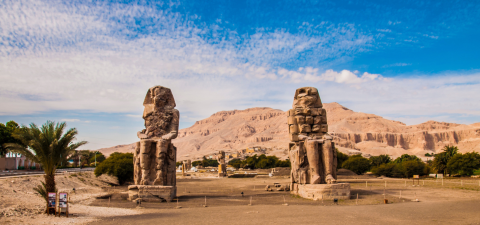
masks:
<path id="1" fill-rule="evenodd" d="M 241 205 L 141 209 L 90 224 L 478 224 L 479 200 L 377 205 Z"/>

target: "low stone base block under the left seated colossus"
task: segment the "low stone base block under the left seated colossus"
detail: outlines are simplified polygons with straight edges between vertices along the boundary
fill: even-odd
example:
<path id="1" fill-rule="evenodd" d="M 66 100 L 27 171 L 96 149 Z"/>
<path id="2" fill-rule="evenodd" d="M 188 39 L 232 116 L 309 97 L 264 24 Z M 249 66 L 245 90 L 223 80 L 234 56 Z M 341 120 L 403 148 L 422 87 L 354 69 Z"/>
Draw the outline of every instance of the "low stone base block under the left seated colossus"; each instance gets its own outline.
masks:
<path id="1" fill-rule="evenodd" d="M 129 185 L 129 200 L 145 202 L 170 202 L 176 196 L 176 186 L 153 186 L 153 185 Z"/>

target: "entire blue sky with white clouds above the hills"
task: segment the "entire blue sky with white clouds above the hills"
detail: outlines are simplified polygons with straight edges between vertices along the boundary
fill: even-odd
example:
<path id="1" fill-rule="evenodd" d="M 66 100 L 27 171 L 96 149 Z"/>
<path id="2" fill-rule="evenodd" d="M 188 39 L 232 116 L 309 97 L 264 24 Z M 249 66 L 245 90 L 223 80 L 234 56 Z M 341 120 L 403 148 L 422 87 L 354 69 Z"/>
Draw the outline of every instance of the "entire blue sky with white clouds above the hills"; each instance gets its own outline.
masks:
<path id="1" fill-rule="evenodd" d="M 180 128 L 220 110 L 323 102 L 416 124 L 480 121 L 478 1 L 0 1 L 0 122 L 137 140 L 148 87 Z"/>

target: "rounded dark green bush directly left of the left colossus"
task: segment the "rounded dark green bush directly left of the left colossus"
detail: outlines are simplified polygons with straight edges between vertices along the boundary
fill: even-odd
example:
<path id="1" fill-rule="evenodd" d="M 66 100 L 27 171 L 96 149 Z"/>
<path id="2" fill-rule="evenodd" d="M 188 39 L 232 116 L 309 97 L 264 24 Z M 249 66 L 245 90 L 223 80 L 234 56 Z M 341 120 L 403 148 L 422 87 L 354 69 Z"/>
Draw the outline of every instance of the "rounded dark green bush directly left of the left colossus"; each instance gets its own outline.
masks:
<path id="1" fill-rule="evenodd" d="M 133 153 L 113 152 L 100 162 L 94 171 L 95 176 L 108 174 L 115 176 L 120 185 L 133 179 Z"/>

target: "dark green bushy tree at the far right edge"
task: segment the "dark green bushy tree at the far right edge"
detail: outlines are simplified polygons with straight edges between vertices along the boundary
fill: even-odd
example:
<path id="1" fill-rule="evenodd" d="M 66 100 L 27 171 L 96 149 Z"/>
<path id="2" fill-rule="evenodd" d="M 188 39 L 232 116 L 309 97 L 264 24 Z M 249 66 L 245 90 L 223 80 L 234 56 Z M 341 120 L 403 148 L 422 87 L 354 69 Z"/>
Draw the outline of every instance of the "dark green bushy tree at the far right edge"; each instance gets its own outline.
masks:
<path id="1" fill-rule="evenodd" d="M 456 153 L 448 161 L 446 167 L 450 173 L 473 175 L 473 171 L 480 168 L 480 154 L 477 152 Z"/>

